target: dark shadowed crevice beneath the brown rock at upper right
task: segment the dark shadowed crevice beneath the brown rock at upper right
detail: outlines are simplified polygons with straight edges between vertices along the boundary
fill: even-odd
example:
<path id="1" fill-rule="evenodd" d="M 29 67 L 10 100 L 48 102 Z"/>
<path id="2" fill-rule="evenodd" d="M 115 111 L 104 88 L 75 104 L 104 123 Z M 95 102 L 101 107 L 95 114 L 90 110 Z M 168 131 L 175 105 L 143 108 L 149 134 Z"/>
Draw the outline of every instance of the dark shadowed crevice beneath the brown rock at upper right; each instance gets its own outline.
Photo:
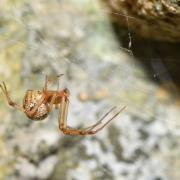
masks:
<path id="1" fill-rule="evenodd" d="M 128 30 L 113 24 L 120 46 L 128 49 Z M 145 39 L 130 32 L 134 59 L 145 68 L 149 79 L 163 85 L 172 93 L 180 93 L 180 43 L 161 42 Z"/>

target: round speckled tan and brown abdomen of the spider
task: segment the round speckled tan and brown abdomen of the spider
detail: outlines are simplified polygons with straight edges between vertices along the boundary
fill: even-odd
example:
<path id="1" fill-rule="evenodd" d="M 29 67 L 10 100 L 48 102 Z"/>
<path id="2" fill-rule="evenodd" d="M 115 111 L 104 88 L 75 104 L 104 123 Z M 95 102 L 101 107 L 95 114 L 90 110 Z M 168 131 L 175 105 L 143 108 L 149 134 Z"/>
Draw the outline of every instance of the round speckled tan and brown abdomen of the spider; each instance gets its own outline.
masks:
<path id="1" fill-rule="evenodd" d="M 37 105 L 37 103 L 43 97 L 43 92 L 38 90 L 28 90 L 25 94 L 24 101 L 23 101 L 23 108 L 27 117 L 32 120 L 43 120 L 48 116 L 48 106 L 45 103 L 41 103 L 36 112 L 30 115 L 27 112 L 31 112 L 31 110 Z"/>

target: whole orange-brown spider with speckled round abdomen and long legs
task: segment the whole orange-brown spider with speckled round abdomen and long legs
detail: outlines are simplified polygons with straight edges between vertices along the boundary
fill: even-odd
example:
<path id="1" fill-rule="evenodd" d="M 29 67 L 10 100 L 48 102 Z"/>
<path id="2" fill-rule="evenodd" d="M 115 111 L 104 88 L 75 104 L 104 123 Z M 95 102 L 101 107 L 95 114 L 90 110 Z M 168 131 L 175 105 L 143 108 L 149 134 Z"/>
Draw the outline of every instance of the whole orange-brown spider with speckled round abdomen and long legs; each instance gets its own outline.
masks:
<path id="1" fill-rule="evenodd" d="M 60 74 L 60 77 L 63 74 Z M 45 85 L 43 90 L 27 90 L 23 100 L 23 106 L 20 106 L 13 102 L 7 91 L 5 82 L 0 84 L 3 93 L 6 96 L 8 104 L 22 112 L 24 112 L 27 117 L 32 120 L 43 120 L 51 112 L 53 105 L 59 109 L 59 129 L 67 135 L 92 135 L 96 134 L 98 131 L 103 129 L 111 120 L 113 120 L 122 110 L 116 112 L 112 117 L 110 117 L 104 124 L 103 120 L 116 109 L 116 107 L 111 108 L 99 121 L 95 124 L 83 128 L 83 129 L 73 129 L 67 126 L 67 113 L 69 106 L 69 90 L 67 88 L 63 90 L 48 90 L 47 86 L 50 83 L 48 77 L 45 78 Z M 102 124 L 100 127 L 98 125 Z"/>

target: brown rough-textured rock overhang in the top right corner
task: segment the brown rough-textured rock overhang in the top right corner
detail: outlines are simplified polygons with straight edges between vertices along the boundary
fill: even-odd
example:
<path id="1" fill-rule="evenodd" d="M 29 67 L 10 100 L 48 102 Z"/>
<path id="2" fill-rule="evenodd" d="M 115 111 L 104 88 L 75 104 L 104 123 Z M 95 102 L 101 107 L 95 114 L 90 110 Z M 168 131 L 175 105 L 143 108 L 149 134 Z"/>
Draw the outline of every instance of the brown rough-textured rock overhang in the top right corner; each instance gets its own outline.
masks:
<path id="1" fill-rule="evenodd" d="M 180 41 L 179 0 L 103 0 L 112 18 L 143 37 L 163 41 Z M 119 15 L 118 15 L 119 14 Z"/>

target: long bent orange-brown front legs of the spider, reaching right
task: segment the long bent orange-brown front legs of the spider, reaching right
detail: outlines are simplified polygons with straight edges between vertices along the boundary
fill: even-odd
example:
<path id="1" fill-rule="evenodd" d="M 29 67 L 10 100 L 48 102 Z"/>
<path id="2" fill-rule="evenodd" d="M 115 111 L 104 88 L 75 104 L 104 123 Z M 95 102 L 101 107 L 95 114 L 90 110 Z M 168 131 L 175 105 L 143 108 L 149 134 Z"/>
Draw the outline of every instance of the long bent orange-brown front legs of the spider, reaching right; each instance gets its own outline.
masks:
<path id="1" fill-rule="evenodd" d="M 69 128 L 67 126 L 67 113 L 68 113 L 68 106 L 69 106 L 69 100 L 65 97 L 62 98 L 62 102 L 59 109 L 59 129 L 67 135 L 92 135 L 96 134 L 100 130 L 102 130 L 107 124 L 109 124 L 118 114 L 125 109 L 123 107 L 121 110 L 119 110 L 117 113 L 115 113 L 111 118 L 109 118 L 105 123 L 100 125 L 103 120 L 112 112 L 115 110 L 116 107 L 113 107 L 110 111 L 108 111 L 97 123 L 95 123 L 92 126 L 89 126 L 84 129 L 73 129 Z M 98 127 L 98 128 L 97 128 Z"/>

